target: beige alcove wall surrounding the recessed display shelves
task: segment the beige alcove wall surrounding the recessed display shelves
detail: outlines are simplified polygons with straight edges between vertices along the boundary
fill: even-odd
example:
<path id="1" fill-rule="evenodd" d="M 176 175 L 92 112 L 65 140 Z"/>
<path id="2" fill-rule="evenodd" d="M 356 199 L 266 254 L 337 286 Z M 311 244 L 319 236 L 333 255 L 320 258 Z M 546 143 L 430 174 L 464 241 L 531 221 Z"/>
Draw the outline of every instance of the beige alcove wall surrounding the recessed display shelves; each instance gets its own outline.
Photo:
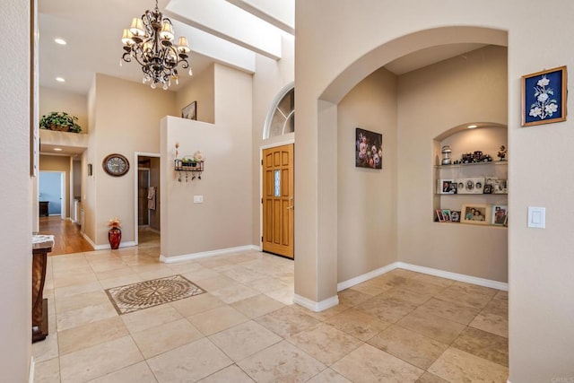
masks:
<path id="1" fill-rule="evenodd" d="M 431 220 L 435 181 L 432 165 L 439 152 L 433 139 L 470 122 L 507 121 L 507 49 L 486 47 L 430 65 L 398 80 L 398 258 L 452 273 L 508 281 L 507 230 L 499 227 L 441 225 Z M 470 91 L 469 91 L 470 90 Z M 469 148 L 490 152 L 503 142 L 483 144 L 486 131 L 468 133 Z M 474 138 L 474 139 L 473 139 Z M 494 139 L 494 138 L 493 138 Z M 448 143 L 445 143 L 448 144 Z M 453 144 L 460 158 L 460 145 Z M 458 148 L 458 149 L 457 149 Z M 469 174 L 467 177 L 479 176 Z M 457 196 L 491 203 L 483 196 Z M 459 205 L 460 204 L 460 205 Z"/>

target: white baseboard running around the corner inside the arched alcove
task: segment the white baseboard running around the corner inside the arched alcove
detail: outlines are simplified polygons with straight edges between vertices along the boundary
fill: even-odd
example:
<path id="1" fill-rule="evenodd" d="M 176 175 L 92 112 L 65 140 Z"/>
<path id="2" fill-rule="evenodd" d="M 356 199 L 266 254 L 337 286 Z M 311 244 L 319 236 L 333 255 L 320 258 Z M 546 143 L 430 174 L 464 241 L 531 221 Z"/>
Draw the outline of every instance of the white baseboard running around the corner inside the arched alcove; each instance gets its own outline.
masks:
<path id="1" fill-rule="evenodd" d="M 337 292 L 340 292 L 344 289 L 348 289 L 348 288 L 354 286 L 355 284 L 359 284 L 359 283 L 363 283 L 365 281 L 368 281 L 372 278 L 375 278 L 378 275 L 386 274 L 389 271 L 395 270 L 396 268 L 411 270 L 411 271 L 415 271 L 417 273 L 422 273 L 422 274 L 430 274 L 430 275 L 439 276 L 442 278 L 452 279 L 454 281 L 459 281 L 459 282 L 477 284 L 479 286 L 490 287 L 492 289 L 503 290 L 505 292 L 509 291 L 509 283 L 492 281 L 490 279 L 479 278 L 479 277 L 472 276 L 472 275 L 451 273 L 448 271 L 434 269 L 431 267 L 406 264 L 404 262 L 393 262 L 392 264 L 380 267 L 380 268 L 373 270 L 369 273 L 361 274 L 361 275 L 355 276 L 354 278 L 351 278 L 347 281 L 337 283 Z"/>

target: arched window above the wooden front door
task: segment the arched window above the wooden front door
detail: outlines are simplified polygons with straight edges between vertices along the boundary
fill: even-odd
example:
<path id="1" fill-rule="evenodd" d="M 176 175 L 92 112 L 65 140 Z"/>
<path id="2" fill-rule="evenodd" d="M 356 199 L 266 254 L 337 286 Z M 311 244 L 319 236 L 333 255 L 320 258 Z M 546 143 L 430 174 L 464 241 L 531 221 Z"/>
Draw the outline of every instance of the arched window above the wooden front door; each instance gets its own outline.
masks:
<path id="1" fill-rule="evenodd" d="M 280 91 L 265 118 L 263 139 L 295 131 L 295 88 L 289 84 Z"/>

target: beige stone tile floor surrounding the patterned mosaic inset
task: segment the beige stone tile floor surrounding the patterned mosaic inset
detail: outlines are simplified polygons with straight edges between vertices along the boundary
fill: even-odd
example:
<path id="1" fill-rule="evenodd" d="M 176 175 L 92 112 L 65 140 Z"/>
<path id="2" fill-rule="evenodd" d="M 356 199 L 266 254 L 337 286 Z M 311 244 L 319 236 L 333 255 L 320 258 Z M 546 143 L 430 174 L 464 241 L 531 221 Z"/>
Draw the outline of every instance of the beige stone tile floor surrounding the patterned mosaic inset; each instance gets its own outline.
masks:
<path id="1" fill-rule="evenodd" d="M 315 313 L 291 302 L 291 260 L 158 254 L 48 258 L 35 382 L 506 382 L 506 292 L 396 269 Z M 104 292 L 173 274 L 207 292 L 121 316 Z"/>

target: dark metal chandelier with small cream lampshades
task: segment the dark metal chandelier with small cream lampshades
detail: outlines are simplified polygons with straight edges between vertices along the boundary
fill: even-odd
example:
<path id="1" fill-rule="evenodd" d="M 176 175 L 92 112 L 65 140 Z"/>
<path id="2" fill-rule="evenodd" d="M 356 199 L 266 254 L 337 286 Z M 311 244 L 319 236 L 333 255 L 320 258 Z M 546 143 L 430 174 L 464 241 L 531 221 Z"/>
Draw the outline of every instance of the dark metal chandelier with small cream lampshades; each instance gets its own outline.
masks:
<path id="1" fill-rule="evenodd" d="M 171 80 L 178 83 L 178 65 L 184 69 L 191 66 L 187 62 L 187 38 L 181 36 L 178 45 L 173 44 L 173 26 L 170 19 L 163 17 L 158 9 L 158 0 L 155 0 L 155 9 L 145 11 L 141 18 L 135 17 L 132 25 L 124 30 L 122 43 L 124 55 L 120 60 L 129 63 L 135 58 L 143 71 L 143 83 L 150 83 L 153 89 L 161 84 L 163 90 L 171 85 Z"/>

